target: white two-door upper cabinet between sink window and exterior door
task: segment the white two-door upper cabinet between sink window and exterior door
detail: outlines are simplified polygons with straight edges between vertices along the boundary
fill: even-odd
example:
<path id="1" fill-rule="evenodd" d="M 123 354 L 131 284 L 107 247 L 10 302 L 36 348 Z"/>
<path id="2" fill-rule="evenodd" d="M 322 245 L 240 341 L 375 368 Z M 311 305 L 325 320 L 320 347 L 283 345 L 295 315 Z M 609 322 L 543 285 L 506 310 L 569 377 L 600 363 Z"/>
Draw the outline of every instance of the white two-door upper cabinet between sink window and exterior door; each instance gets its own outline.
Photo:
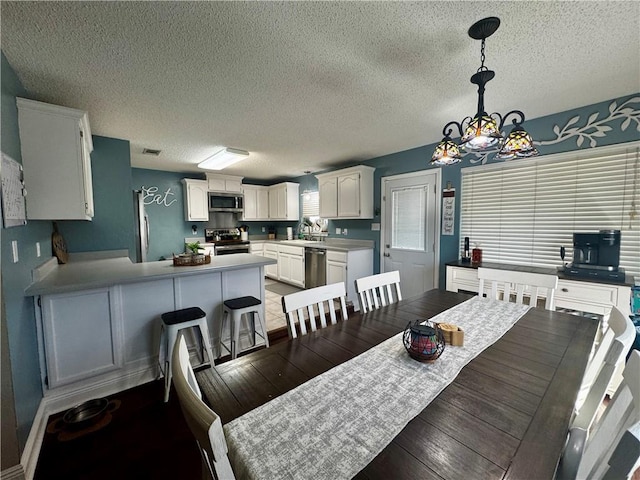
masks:
<path id="1" fill-rule="evenodd" d="M 366 165 L 316 175 L 322 218 L 373 218 L 373 172 Z"/>

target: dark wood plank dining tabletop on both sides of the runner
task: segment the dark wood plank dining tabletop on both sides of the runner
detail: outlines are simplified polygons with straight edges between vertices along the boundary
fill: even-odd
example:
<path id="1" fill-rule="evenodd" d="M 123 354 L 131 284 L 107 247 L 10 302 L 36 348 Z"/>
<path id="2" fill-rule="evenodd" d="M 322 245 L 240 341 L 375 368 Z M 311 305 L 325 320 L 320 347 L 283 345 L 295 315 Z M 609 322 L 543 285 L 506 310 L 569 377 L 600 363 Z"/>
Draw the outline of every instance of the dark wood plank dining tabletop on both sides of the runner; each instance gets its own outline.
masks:
<path id="1" fill-rule="evenodd" d="M 228 423 L 410 321 L 469 298 L 431 290 L 356 312 L 345 322 L 198 372 L 197 379 L 205 401 Z M 530 309 L 355 478 L 553 478 L 597 329 L 592 319 Z"/>

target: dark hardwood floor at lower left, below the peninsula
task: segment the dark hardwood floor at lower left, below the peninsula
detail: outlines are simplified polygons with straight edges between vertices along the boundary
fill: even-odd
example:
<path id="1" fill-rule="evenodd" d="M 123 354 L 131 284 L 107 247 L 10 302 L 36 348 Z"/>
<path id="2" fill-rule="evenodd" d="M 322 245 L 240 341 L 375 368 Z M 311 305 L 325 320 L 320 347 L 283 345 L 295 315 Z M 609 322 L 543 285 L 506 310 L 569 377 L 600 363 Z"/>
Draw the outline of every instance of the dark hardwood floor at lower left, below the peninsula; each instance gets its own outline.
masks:
<path id="1" fill-rule="evenodd" d="M 269 332 L 272 345 L 287 339 L 286 328 Z M 108 398 L 111 421 L 93 432 L 64 430 L 64 412 L 49 417 L 35 480 L 202 478 L 200 452 L 173 387 L 168 403 L 162 379 Z"/>

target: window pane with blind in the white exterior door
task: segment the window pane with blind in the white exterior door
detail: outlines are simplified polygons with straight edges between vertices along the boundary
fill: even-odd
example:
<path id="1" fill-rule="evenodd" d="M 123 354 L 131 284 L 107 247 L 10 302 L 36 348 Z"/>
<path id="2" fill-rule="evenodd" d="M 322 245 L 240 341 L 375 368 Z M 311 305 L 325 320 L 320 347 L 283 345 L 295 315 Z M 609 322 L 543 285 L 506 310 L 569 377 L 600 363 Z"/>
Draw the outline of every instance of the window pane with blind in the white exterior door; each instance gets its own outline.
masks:
<path id="1" fill-rule="evenodd" d="M 392 192 L 391 248 L 425 250 L 426 194 L 424 187 Z"/>

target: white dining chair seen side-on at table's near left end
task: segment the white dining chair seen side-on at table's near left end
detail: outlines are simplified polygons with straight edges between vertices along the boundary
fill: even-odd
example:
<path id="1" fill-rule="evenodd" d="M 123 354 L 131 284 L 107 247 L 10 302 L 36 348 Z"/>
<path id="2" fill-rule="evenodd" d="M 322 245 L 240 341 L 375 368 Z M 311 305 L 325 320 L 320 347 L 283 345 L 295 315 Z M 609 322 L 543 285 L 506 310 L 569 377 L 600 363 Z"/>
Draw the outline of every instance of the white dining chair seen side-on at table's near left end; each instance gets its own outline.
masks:
<path id="1" fill-rule="evenodd" d="M 189 363 L 189 351 L 182 333 L 173 349 L 173 385 L 184 418 L 193 433 L 202 457 L 203 478 L 234 480 L 227 457 L 222 421 L 203 401 L 200 387 Z"/>

